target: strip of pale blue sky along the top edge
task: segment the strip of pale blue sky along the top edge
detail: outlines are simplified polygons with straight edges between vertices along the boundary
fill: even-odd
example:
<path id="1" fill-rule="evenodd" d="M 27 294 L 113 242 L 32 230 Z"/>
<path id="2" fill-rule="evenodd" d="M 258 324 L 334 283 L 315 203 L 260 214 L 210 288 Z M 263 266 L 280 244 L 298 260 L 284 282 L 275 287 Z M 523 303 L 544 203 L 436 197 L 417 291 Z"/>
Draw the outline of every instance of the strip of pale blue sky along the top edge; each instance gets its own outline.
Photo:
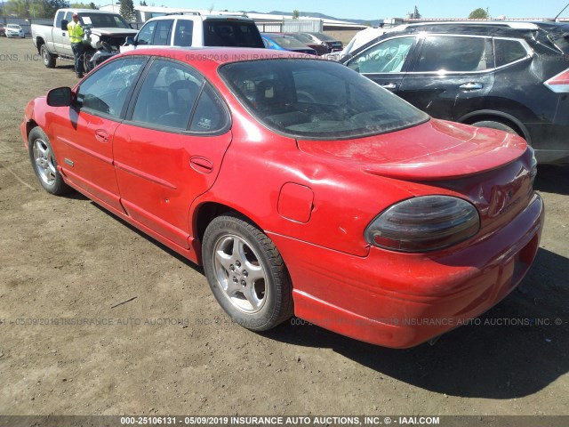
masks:
<path id="1" fill-rule="evenodd" d="M 478 7 L 488 8 L 488 12 L 497 18 L 505 15 L 507 18 L 553 18 L 569 0 L 292 0 L 287 2 L 276 0 L 147 0 L 147 4 L 156 6 L 188 7 L 195 9 L 229 11 L 284 11 L 294 9 L 305 12 L 321 12 L 326 15 L 344 19 L 377 20 L 385 18 L 405 18 L 407 12 L 413 12 L 417 5 L 423 18 L 466 18 L 469 12 Z M 135 0 L 138 4 L 139 0 Z M 569 7 L 561 15 L 569 18 Z"/>

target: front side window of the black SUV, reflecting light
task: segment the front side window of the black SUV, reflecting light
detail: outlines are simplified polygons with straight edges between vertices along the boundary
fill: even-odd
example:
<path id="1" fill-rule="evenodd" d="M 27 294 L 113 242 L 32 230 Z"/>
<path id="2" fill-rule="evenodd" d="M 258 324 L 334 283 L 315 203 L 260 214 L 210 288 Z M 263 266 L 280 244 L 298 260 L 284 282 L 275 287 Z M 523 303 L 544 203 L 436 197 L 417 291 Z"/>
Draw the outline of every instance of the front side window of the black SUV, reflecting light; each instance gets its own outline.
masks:
<path id="1" fill-rule="evenodd" d="M 348 67 L 359 73 L 399 73 L 415 37 L 400 37 L 376 44 L 350 60 Z"/>

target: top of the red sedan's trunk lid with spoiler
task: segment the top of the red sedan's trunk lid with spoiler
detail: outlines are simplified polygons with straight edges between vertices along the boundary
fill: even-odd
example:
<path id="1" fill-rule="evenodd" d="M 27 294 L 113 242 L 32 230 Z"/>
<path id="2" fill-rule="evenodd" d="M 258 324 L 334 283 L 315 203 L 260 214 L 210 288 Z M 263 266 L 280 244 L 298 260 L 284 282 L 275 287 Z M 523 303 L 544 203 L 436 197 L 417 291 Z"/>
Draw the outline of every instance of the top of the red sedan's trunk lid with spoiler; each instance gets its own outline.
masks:
<path id="1" fill-rule="evenodd" d="M 365 173 L 410 181 L 445 181 L 514 162 L 525 141 L 493 129 L 431 119 L 392 133 L 346 141 L 297 141 L 301 151 L 358 164 Z"/>

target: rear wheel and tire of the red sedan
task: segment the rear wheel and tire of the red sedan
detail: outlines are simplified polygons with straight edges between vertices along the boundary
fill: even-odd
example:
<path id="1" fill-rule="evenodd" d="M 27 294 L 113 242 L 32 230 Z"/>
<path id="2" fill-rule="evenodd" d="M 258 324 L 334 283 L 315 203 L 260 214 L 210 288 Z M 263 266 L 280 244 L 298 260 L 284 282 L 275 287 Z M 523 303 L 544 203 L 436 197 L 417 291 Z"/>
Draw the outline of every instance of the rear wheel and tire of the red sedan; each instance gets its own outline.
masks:
<path id="1" fill-rule="evenodd" d="M 204 234 L 204 270 L 231 319 L 266 331 L 293 316 L 293 286 L 274 243 L 241 215 L 215 218 Z"/>

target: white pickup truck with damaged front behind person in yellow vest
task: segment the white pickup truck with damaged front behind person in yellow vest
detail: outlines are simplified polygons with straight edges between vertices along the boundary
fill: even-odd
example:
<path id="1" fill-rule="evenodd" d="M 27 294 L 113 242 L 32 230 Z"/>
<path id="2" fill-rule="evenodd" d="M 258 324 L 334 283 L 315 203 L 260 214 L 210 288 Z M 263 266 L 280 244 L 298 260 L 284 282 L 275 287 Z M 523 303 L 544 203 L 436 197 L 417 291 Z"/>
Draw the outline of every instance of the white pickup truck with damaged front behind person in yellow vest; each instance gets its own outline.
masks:
<path id="1" fill-rule="evenodd" d="M 32 24 L 32 39 L 37 52 L 42 55 L 47 68 L 55 67 L 56 58 L 73 60 L 71 42 L 69 42 L 68 23 L 73 13 L 79 15 L 84 28 L 84 69 L 93 64 L 92 55 L 103 49 L 103 44 L 118 52 L 126 37 L 134 36 L 138 31 L 132 29 L 124 18 L 115 12 L 102 12 L 93 9 L 60 9 L 55 13 L 53 25 Z"/>

